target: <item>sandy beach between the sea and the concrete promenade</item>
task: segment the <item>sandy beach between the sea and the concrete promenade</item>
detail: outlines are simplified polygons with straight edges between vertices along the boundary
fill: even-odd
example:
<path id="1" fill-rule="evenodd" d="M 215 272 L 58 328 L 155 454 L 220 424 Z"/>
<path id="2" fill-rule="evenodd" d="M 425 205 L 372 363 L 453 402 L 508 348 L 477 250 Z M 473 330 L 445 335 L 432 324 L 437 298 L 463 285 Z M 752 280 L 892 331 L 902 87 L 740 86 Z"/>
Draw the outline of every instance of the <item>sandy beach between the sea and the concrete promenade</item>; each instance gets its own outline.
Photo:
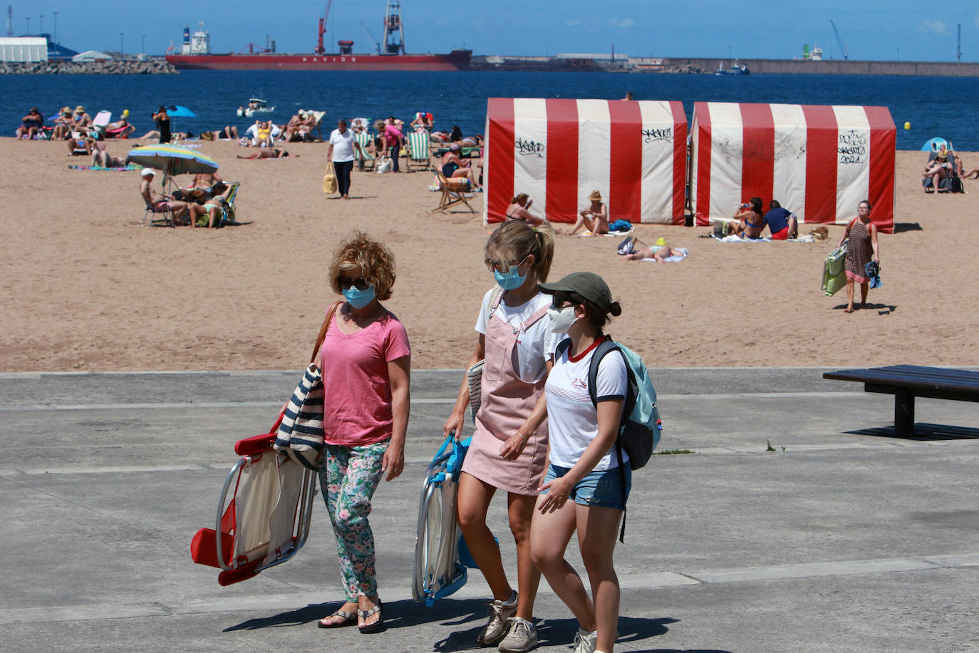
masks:
<path id="1" fill-rule="evenodd" d="M 167 229 L 140 226 L 137 171 L 72 170 L 88 162 L 64 143 L 0 138 L 0 370 L 300 368 L 335 299 L 331 254 L 354 229 L 396 254 L 386 305 L 408 330 L 414 367 L 462 367 L 492 284 L 483 198 L 477 214 L 430 213 L 430 172 L 354 171 L 345 202 L 323 194 L 325 145 L 288 147 L 300 157 L 243 161 L 235 143 L 204 143 L 222 177 L 242 182 L 238 219 L 251 223 Z M 551 279 L 600 273 L 624 309 L 607 331 L 650 366 L 979 365 L 979 182 L 964 182 L 966 195 L 925 195 L 924 159 L 898 153 L 883 287 L 850 315 L 845 293 L 819 290 L 842 226 L 815 244 L 727 244 L 698 238 L 705 228 L 639 225 L 645 242 L 689 248 L 667 264 L 621 262 L 621 237 L 558 236 Z"/>

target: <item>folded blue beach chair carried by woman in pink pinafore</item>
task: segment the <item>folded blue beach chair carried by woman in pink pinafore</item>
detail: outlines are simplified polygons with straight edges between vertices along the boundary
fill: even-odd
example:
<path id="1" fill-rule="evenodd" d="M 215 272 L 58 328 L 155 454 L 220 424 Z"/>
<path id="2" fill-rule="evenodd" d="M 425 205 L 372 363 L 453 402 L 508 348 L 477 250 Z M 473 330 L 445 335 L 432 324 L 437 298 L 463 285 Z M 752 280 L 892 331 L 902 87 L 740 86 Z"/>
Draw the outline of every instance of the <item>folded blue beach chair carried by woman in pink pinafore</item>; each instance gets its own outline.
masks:
<path id="1" fill-rule="evenodd" d="M 429 607 L 435 599 L 466 583 L 467 567 L 476 568 L 455 516 L 459 474 L 471 441 L 460 443 L 454 432 L 449 434 L 425 472 L 418 504 L 411 596 Z"/>

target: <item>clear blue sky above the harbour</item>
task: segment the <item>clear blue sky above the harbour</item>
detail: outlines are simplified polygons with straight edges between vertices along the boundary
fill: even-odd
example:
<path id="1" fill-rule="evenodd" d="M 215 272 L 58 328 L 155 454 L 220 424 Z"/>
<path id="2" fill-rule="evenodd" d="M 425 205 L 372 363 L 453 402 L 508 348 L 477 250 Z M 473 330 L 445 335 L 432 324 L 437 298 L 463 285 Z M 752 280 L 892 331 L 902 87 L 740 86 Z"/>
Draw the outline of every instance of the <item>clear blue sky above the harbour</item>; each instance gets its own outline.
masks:
<path id="1" fill-rule="evenodd" d="M 11 0 L 8 0 L 11 2 Z M 7 3 L 4 3 L 6 5 Z M 162 54 L 172 40 L 179 47 L 185 24 L 204 22 L 214 52 L 264 45 L 275 38 L 279 52 L 311 52 L 316 22 L 326 0 L 89 0 L 24 3 L 14 0 L 14 30 L 22 34 L 42 23 L 58 39 L 82 51 L 118 50 Z M 327 25 L 328 50 L 338 39 L 365 52 L 361 22 L 382 38 L 385 0 L 334 0 Z M 979 3 L 924 3 L 910 0 L 403 0 L 401 16 L 409 52 L 471 48 L 475 54 L 553 55 L 609 52 L 632 56 L 735 57 L 781 59 L 798 56 L 803 44 L 818 44 L 824 58 L 841 59 L 832 19 L 850 59 L 954 61 L 956 23 L 962 25 L 962 61 L 979 62 Z M 729 50 L 728 50 L 729 48 Z"/>

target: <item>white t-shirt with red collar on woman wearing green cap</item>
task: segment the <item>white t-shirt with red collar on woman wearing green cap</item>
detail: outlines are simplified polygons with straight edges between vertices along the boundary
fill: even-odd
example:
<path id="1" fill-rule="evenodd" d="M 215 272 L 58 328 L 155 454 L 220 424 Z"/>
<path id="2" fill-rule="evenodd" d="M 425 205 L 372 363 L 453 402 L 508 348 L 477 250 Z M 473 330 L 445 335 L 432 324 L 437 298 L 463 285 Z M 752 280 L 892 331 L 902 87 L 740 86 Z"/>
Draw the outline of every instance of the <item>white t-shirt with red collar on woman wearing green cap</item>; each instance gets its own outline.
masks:
<path id="1" fill-rule="evenodd" d="M 595 438 L 598 437 L 598 412 L 588 394 L 588 368 L 590 350 L 580 360 L 571 360 L 568 350 L 554 361 L 554 367 L 544 385 L 547 400 L 547 437 L 550 440 L 550 462 L 558 467 L 571 469 L 579 461 Z M 626 360 L 619 351 L 609 351 L 598 363 L 595 396 L 626 397 L 629 377 Z M 594 471 L 604 471 L 619 465 L 615 445 L 598 461 Z M 629 454 L 623 451 L 629 460 Z"/>

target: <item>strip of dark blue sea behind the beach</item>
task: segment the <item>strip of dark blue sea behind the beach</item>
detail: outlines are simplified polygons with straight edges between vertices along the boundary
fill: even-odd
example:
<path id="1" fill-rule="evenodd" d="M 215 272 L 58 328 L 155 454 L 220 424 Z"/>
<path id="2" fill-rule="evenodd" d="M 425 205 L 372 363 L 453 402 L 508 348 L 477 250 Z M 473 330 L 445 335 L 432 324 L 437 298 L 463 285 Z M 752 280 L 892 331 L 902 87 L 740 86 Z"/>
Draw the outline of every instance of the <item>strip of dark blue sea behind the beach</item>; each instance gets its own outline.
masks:
<path id="1" fill-rule="evenodd" d="M 601 72 L 353 72 L 196 70 L 175 75 L 7 75 L 0 126 L 13 135 L 31 106 L 46 116 L 60 107 L 106 109 L 114 119 L 123 109 L 137 134 L 153 128 L 150 115 L 161 105 L 183 105 L 196 117 L 172 119 L 175 131 L 198 133 L 252 120 L 236 115 L 253 94 L 274 105 L 276 121 L 297 109 L 326 110 L 324 126 L 340 117 L 409 120 L 431 113 L 436 128 L 459 125 L 483 133 L 487 98 L 681 100 L 689 118 L 696 101 L 814 105 L 883 105 L 898 125 L 898 149 L 918 150 L 934 136 L 957 150 L 979 151 L 971 112 L 979 103 L 979 78 L 858 75 L 624 74 Z M 903 128 L 910 122 L 910 129 Z"/>

